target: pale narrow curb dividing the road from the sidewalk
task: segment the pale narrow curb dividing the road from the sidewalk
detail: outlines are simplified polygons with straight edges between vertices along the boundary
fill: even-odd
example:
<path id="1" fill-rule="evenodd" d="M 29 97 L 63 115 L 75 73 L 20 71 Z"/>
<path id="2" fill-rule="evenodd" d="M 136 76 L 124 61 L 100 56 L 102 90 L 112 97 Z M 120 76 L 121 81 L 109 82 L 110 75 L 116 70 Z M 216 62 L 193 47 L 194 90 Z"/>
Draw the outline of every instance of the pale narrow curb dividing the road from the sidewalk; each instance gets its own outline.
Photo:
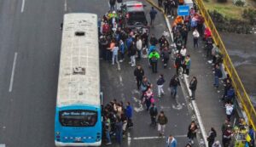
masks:
<path id="1" fill-rule="evenodd" d="M 165 14 L 163 8 L 159 8 L 152 0 L 146 0 L 146 1 L 147 1 L 148 3 L 150 3 L 152 6 L 154 6 L 154 8 L 157 8 L 157 9 L 164 15 L 165 20 L 166 20 L 166 25 L 167 25 L 167 27 L 168 27 L 168 30 L 169 30 L 169 33 L 170 33 L 170 36 L 171 36 L 172 42 L 173 42 L 172 27 L 171 27 L 171 25 L 170 25 L 170 22 L 169 22 L 169 20 L 168 20 L 168 17 L 166 16 L 166 14 Z M 184 82 L 185 82 L 185 84 L 186 84 L 186 88 L 187 88 L 187 90 L 188 90 L 188 92 L 189 92 L 189 96 L 190 96 L 190 95 L 191 95 L 191 91 L 190 91 L 190 89 L 189 89 L 189 82 L 188 82 L 188 79 L 187 79 L 187 77 L 185 77 L 185 75 L 183 75 L 183 79 L 184 79 Z M 203 138 L 202 141 L 204 142 L 205 146 L 208 147 L 206 129 L 205 129 L 205 127 L 203 126 L 203 122 L 202 122 L 202 120 L 201 120 L 201 115 L 200 115 L 200 112 L 199 112 L 199 110 L 198 110 L 198 107 L 197 107 L 197 105 L 196 105 L 196 103 L 195 103 L 195 100 L 192 100 L 192 106 L 193 106 L 193 108 L 194 108 L 194 110 L 195 110 L 195 116 L 196 116 L 196 119 L 197 119 L 197 121 L 198 121 L 198 123 L 199 123 L 199 127 L 200 127 L 200 129 L 201 129 L 201 134 L 202 134 L 202 138 Z M 199 144 L 200 144 L 200 143 L 201 143 L 201 141 L 199 140 Z"/>

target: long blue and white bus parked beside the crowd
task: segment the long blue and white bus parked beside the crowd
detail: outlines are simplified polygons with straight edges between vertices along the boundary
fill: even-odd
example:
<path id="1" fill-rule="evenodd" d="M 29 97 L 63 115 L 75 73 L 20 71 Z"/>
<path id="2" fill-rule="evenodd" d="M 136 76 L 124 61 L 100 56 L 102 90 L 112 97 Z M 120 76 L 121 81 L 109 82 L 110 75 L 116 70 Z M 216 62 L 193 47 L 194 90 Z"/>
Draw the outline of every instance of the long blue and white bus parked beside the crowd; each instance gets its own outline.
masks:
<path id="1" fill-rule="evenodd" d="M 55 110 L 56 146 L 100 146 L 97 15 L 65 14 Z"/>

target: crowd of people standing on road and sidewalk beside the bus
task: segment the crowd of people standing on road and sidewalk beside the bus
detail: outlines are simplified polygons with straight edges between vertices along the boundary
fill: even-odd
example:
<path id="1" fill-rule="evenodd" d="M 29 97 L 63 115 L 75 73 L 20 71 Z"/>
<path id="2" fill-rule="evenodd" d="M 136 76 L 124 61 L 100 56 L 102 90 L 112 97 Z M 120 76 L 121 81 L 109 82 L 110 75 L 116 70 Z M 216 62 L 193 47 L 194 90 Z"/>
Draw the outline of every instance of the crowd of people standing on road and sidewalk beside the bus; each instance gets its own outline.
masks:
<path id="1" fill-rule="evenodd" d="M 224 94 L 222 100 L 224 101 L 226 120 L 224 126 L 222 127 L 222 143 L 224 147 L 228 147 L 231 141 L 232 126 L 231 118 L 235 112 L 234 99 L 236 92 L 232 86 L 232 81 L 230 76 L 224 75 L 222 71 L 223 55 L 220 52 L 218 44 L 214 43 L 212 39 L 212 33 L 209 28 L 204 27 L 204 18 L 196 7 L 190 9 L 189 16 L 177 16 L 175 13 L 178 4 L 183 4 L 183 1 L 176 0 L 159 0 L 159 7 L 165 8 L 165 12 L 175 20 L 172 24 L 172 34 L 173 34 L 173 44 L 168 42 L 166 36 L 161 36 L 157 38 L 154 34 L 148 37 L 148 30 L 143 31 L 131 31 L 123 27 L 124 14 L 120 11 L 120 3 L 122 1 L 118 0 L 118 8 L 115 8 L 115 0 L 110 0 L 110 10 L 105 14 L 102 20 L 99 20 L 99 34 L 100 34 L 100 51 L 101 58 L 109 61 L 112 65 L 115 63 L 120 64 L 125 61 L 125 56 L 129 57 L 129 64 L 131 66 L 137 66 L 134 70 L 134 76 L 137 80 L 137 89 L 141 92 L 141 101 L 145 105 L 146 110 L 149 113 L 151 119 L 151 126 L 157 127 L 160 136 L 165 133 L 165 127 L 168 123 L 168 119 L 164 111 L 158 113 L 155 102 L 159 99 L 154 98 L 153 93 L 153 83 L 149 82 L 148 77 L 145 76 L 143 71 L 143 66 L 137 64 L 137 60 L 146 54 L 148 57 L 148 65 L 152 69 L 152 73 L 158 72 L 158 63 L 161 61 L 163 67 L 166 68 L 171 64 L 170 54 L 174 54 L 174 68 L 176 68 L 176 74 L 172 76 L 169 83 L 171 89 L 172 98 L 176 98 L 177 88 L 180 86 L 179 76 L 185 74 L 189 76 L 189 70 L 191 67 L 191 59 L 189 50 L 187 48 L 187 40 L 189 37 L 189 31 L 192 31 L 194 49 L 199 48 L 199 39 L 202 39 L 209 59 L 209 63 L 212 64 L 212 71 L 214 73 L 213 86 L 215 88 L 219 87 L 219 79 L 223 79 L 224 82 Z M 157 14 L 154 8 L 150 10 L 151 25 L 154 25 L 154 19 Z M 172 48 L 173 52 L 172 52 Z M 225 77 L 225 78 L 223 78 Z M 166 83 L 163 74 L 159 75 L 156 82 L 157 95 L 161 98 L 164 92 L 164 84 Z M 195 100 L 195 91 L 197 87 L 197 78 L 193 76 L 189 82 L 189 89 L 192 92 L 191 100 Z M 128 128 L 133 126 L 132 123 L 132 107 L 130 102 L 126 102 L 123 105 L 122 102 L 117 102 L 117 100 L 111 101 L 103 109 L 104 116 L 104 136 L 106 137 L 107 144 L 112 144 L 112 137 L 115 136 L 117 142 L 121 144 L 125 133 L 127 133 Z M 252 127 L 250 127 L 252 128 Z M 191 122 L 188 129 L 189 144 L 187 147 L 191 147 L 194 144 L 194 139 L 196 137 L 197 125 L 195 122 Z M 254 133 L 252 129 L 249 129 L 248 133 L 251 137 L 248 144 L 253 144 Z M 209 147 L 221 147 L 217 137 L 217 132 L 212 127 L 208 133 L 207 141 Z M 177 140 L 174 139 L 172 135 L 167 138 L 166 144 L 170 147 L 177 146 Z M 253 146 L 253 145 L 251 145 Z"/>

